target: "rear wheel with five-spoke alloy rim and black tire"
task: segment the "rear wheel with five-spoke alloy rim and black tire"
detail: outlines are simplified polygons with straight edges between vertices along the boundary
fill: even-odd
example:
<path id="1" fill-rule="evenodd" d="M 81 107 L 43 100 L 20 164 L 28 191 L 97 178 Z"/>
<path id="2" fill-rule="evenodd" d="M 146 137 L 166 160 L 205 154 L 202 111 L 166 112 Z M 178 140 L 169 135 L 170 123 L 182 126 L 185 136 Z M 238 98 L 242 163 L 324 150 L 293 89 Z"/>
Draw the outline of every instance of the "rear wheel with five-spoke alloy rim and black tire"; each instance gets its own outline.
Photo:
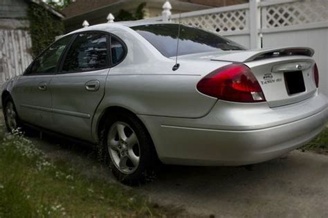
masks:
<path id="1" fill-rule="evenodd" d="M 101 138 L 105 161 L 118 181 L 138 185 L 154 180 L 157 154 L 152 138 L 136 116 L 113 114 L 106 120 Z"/>

